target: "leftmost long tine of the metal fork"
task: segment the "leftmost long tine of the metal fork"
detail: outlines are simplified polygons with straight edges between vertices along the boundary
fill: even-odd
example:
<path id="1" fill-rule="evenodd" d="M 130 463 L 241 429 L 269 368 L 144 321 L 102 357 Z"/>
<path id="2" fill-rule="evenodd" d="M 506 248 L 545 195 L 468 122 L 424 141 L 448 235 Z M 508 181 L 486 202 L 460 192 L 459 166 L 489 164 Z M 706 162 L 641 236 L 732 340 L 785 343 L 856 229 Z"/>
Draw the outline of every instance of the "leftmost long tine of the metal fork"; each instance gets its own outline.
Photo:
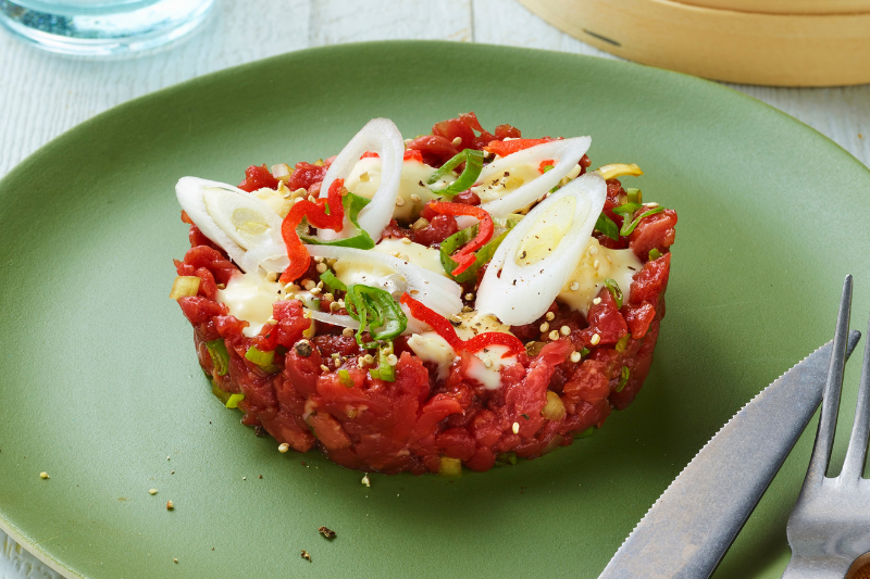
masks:
<path id="1" fill-rule="evenodd" d="M 809 461 L 806 482 L 821 481 L 831 460 L 831 448 L 834 444 L 836 414 L 840 410 L 840 391 L 843 388 L 843 366 L 846 363 L 846 342 L 849 333 L 849 307 L 852 306 L 852 276 L 843 281 L 843 297 L 840 300 L 840 314 L 836 319 L 834 348 L 831 352 L 831 365 L 828 368 L 828 380 L 822 393 L 822 412 L 819 430 L 816 432 L 816 444 Z"/>

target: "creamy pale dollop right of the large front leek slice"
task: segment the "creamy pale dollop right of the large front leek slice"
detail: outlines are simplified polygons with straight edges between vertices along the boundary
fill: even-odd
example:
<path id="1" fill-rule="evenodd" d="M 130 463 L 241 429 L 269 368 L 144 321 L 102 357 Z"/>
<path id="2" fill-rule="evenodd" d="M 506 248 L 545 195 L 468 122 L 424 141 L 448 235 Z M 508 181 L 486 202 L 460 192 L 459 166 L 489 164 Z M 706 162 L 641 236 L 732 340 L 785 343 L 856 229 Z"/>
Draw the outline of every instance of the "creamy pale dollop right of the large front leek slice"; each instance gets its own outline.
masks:
<path id="1" fill-rule="evenodd" d="M 627 301 L 632 276 L 642 267 L 641 260 L 632 250 L 602 248 L 597 239 L 592 239 L 574 273 L 556 299 L 585 316 L 589 311 L 589 304 L 605 287 L 605 279 L 610 278 L 617 282 L 624 300 Z M 575 285 L 576 289 L 572 290 L 572 285 Z"/>

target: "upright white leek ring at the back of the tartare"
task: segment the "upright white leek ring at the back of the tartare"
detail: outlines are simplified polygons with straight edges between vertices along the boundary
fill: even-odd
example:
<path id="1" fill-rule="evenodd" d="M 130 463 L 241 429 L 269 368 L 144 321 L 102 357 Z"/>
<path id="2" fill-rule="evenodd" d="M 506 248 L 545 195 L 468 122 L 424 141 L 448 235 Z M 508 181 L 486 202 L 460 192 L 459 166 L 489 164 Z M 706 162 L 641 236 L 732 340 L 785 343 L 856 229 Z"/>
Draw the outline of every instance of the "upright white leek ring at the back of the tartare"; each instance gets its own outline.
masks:
<path id="1" fill-rule="evenodd" d="M 375 152 L 381 158 L 381 185 L 371 202 L 360 211 L 358 222 L 372 239 L 380 239 L 381 232 L 389 224 L 393 211 L 396 209 L 405 156 L 405 141 L 393 121 L 373 118 L 350 139 L 350 142 L 341 149 L 326 171 L 320 188 L 320 197 L 327 197 L 330 186 L 335 179 L 347 179 L 360 156 L 366 151 Z M 353 226 L 345 217 L 345 227 L 340 232 L 321 229 L 318 231 L 318 236 L 324 240 L 344 239 L 352 231 Z"/>

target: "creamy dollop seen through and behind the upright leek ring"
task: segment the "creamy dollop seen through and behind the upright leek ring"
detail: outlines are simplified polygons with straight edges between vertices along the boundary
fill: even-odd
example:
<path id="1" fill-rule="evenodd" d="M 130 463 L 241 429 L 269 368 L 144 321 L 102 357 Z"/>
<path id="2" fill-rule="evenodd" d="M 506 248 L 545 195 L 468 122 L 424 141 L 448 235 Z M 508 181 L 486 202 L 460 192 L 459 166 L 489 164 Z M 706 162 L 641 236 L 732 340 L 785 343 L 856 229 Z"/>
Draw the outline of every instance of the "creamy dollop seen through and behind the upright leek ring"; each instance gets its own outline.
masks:
<path id="1" fill-rule="evenodd" d="M 448 174 L 450 181 L 439 179 L 433 185 L 428 185 L 430 177 L 436 172 L 425 163 L 414 159 L 406 159 L 401 165 L 401 179 L 399 181 L 399 198 L 401 204 L 397 204 L 393 210 L 393 217 L 402 223 L 411 223 L 417 219 L 420 211 L 427 201 L 438 199 L 439 196 L 432 192 L 433 189 L 443 189 L 456 178 L 455 174 Z M 369 156 L 360 159 L 350 171 L 350 175 L 345 179 L 345 187 L 351 193 L 372 199 L 375 191 L 381 186 L 381 159 Z M 412 198 L 414 196 L 417 199 Z"/>

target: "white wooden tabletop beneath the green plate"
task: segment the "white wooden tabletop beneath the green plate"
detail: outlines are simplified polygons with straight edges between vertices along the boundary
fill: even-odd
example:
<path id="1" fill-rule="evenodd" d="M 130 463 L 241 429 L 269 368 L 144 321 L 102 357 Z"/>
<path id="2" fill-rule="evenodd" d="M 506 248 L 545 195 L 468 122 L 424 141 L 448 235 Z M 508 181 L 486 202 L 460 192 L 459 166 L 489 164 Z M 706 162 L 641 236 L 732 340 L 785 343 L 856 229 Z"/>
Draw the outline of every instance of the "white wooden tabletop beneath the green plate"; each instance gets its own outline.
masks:
<path id="1" fill-rule="evenodd" d="M 188 78 L 291 50 L 382 39 L 513 45 L 611 58 L 513 0 L 222 0 L 185 43 L 135 60 L 39 52 L 0 32 L 0 176 L 66 129 Z M 823 133 L 870 166 L 870 85 L 734 87 Z M 811 162 L 811 160 L 807 160 Z M 0 579 L 59 576 L 0 531 Z"/>

